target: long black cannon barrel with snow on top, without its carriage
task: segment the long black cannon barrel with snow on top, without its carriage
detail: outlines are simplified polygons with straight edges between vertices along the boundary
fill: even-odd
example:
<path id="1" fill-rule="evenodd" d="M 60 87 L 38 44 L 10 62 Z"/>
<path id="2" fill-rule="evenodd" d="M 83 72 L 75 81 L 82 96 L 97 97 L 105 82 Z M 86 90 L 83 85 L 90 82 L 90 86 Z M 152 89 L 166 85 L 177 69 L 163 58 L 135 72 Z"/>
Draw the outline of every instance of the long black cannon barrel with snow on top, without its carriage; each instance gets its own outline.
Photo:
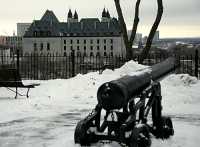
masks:
<path id="1" fill-rule="evenodd" d="M 159 81 L 177 67 L 173 57 L 155 64 L 135 75 L 126 75 L 117 80 L 106 82 L 97 91 L 98 104 L 105 110 L 121 109 L 130 98 L 140 94 L 151 81 Z"/>

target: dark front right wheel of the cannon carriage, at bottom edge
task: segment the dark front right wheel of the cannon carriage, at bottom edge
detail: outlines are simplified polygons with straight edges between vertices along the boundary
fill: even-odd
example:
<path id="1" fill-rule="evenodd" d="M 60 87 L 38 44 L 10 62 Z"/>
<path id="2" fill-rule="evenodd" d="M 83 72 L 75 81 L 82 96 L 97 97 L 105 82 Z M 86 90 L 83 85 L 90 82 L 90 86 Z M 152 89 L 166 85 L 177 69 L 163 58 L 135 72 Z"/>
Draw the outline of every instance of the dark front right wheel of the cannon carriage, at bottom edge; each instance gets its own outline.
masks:
<path id="1" fill-rule="evenodd" d="M 149 128 L 142 126 L 134 128 L 130 137 L 129 147 L 150 147 L 151 139 L 149 135 Z"/>

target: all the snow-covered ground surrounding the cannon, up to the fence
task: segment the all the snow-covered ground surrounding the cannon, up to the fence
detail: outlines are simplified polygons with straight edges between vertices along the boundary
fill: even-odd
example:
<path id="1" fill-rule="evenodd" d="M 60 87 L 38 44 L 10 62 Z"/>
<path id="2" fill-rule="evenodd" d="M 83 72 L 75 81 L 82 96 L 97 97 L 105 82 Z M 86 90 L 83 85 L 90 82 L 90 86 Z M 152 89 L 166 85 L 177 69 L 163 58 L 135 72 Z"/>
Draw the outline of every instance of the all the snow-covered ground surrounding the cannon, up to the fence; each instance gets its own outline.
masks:
<path id="1" fill-rule="evenodd" d="M 30 98 L 14 99 L 0 88 L 0 147 L 73 147 L 76 123 L 96 105 L 96 92 L 104 82 L 146 68 L 130 61 L 115 71 L 77 75 L 67 80 L 40 83 Z M 170 75 L 162 82 L 163 113 L 174 122 L 169 140 L 152 138 L 152 147 L 198 147 L 200 144 L 200 81 L 189 75 Z M 21 92 L 25 92 L 23 89 Z M 117 143 L 93 146 L 117 147 Z"/>

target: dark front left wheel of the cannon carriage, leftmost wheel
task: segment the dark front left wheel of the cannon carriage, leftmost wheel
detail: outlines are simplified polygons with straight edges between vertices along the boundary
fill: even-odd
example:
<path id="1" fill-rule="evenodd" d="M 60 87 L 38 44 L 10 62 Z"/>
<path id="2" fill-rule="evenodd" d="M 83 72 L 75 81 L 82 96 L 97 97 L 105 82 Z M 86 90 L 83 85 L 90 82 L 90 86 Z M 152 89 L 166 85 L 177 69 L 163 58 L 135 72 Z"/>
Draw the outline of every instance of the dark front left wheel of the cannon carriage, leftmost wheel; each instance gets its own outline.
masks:
<path id="1" fill-rule="evenodd" d="M 87 126 L 84 120 L 78 122 L 74 133 L 75 143 L 78 143 L 81 146 L 90 145 L 89 135 L 87 134 L 88 128 L 89 126 Z"/>

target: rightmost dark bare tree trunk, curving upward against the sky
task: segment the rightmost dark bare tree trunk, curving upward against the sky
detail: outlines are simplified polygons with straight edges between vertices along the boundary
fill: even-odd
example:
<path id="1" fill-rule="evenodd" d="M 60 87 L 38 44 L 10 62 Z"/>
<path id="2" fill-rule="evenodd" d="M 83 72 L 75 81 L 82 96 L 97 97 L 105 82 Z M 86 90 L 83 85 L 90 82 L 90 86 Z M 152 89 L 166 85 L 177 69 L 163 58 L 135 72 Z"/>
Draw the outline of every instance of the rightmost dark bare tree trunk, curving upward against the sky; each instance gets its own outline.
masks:
<path id="1" fill-rule="evenodd" d="M 154 24 L 151 28 L 151 31 L 149 33 L 149 36 L 147 38 L 147 42 L 146 42 L 146 46 L 143 49 L 141 56 L 139 58 L 139 63 L 142 64 L 144 59 L 147 57 L 150 49 L 151 49 L 151 45 L 152 45 L 152 41 L 154 38 L 154 35 L 156 33 L 156 30 L 160 24 L 161 18 L 162 18 L 162 14 L 163 14 L 163 2 L 162 0 L 157 0 L 157 4 L 158 4 L 158 10 L 157 10 L 157 16 L 156 16 L 156 20 L 154 21 Z"/>

